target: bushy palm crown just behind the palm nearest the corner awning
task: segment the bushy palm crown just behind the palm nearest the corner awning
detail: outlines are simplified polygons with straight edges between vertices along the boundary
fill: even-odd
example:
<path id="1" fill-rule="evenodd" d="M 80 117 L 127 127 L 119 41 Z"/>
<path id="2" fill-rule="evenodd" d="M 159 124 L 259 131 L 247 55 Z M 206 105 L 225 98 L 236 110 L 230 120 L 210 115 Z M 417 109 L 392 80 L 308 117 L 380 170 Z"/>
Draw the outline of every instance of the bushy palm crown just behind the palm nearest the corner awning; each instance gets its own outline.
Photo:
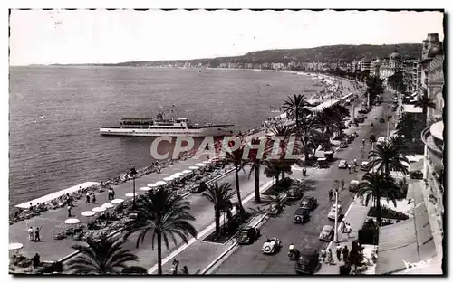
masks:
<path id="1" fill-rule="evenodd" d="M 371 150 L 368 158 L 371 158 L 370 167 L 378 166 L 378 172 L 390 176 L 390 170 L 408 174 L 408 169 L 403 163 L 409 164 L 408 157 L 403 156 L 399 146 L 390 142 L 378 145 Z"/>

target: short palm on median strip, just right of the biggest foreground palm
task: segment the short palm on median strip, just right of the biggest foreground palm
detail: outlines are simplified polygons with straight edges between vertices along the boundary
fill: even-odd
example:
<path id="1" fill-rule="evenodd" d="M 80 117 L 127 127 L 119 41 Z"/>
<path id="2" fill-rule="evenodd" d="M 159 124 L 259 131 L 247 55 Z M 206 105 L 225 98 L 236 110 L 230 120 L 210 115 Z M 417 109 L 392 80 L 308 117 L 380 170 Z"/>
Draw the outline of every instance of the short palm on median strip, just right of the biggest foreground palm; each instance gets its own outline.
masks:
<path id="1" fill-rule="evenodd" d="M 217 182 L 214 185 L 207 187 L 207 190 L 202 193 L 209 202 L 214 204 L 214 219 L 216 222 L 216 235 L 220 235 L 220 213 L 226 211 L 227 208 L 231 207 L 231 198 L 235 195 L 232 192 L 231 184 L 222 183 L 220 186 Z"/>

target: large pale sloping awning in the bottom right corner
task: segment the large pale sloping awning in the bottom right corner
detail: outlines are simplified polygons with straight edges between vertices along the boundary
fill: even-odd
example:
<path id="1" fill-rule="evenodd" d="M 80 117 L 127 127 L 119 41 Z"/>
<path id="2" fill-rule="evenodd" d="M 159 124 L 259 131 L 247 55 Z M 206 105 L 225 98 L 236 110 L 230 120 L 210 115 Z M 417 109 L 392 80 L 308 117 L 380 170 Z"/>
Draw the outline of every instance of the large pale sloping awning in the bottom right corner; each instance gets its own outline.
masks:
<path id="1" fill-rule="evenodd" d="M 406 263 L 417 263 L 436 255 L 428 212 L 424 203 L 415 205 L 414 217 L 379 231 L 376 274 L 389 274 L 406 269 Z"/>

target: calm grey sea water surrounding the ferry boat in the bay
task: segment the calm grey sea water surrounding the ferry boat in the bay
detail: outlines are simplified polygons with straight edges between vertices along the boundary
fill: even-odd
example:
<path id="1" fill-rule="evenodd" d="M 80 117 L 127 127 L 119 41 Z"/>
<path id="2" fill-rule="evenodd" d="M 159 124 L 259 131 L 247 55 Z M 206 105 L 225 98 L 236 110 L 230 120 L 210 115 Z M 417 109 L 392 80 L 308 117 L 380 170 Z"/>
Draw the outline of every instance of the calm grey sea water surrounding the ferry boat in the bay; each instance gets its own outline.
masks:
<path id="1" fill-rule="evenodd" d="M 149 165 L 148 137 L 99 134 L 121 117 L 176 104 L 178 117 L 246 130 L 287 95 L 319 89 L 305 76 L 246 70 L 11 67 L 10 78 L 11 205 Z"/>

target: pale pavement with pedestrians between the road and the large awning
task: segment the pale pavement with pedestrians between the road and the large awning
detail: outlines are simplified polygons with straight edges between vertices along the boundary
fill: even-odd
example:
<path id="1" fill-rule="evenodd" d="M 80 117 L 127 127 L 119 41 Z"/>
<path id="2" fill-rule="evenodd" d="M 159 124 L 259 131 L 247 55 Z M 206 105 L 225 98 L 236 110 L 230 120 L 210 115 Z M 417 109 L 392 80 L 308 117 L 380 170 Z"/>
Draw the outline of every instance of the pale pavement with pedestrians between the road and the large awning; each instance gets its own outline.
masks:
<path id="1" fill-rule="evenodd" d="M 367 213 L 371 208 L 371 203 L 372 202 L 368 203 L 368 206 L 361 205 L 360 198 L 357 198 L 352 202 L 349 211 L 344 217 L 344 222 L 351 224 L 351 234 L 348 236 L 347 234 L 342 233 L 340 223 L 338 225 L 338 241 L 342 247 L 348 246 L 348 249 L 351 250 L 352 241 L 358 240 L 358 231 L 361 229 L 361 226 L 363 226 L 363 223 L 367 218 Z M 333 264 L 323 263 L 317 274 L 340 274 L 339 268 L 343 265 L 344 261 L 342 258 L 340 261 L 336 258 L 335 247 L 336 243 L 333 241 L 331 241 L 327 246 L 327 249 L 332 249 Z"/>

